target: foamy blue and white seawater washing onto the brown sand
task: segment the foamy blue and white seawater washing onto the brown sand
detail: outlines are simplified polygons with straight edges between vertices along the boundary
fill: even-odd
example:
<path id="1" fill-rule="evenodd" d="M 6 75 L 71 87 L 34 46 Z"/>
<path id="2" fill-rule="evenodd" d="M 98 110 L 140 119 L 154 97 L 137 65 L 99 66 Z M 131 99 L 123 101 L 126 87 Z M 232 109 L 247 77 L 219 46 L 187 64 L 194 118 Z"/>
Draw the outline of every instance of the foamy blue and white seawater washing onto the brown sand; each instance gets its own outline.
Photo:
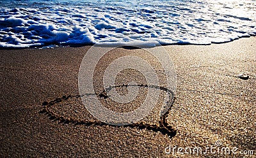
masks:
<path id="1" fill-rule="evenodd" d="M 256 1 L 0 3 L 0 47 L 225 43 L 256 34 Z M 7 2 L 6 2 L 7 3 Z"/>

